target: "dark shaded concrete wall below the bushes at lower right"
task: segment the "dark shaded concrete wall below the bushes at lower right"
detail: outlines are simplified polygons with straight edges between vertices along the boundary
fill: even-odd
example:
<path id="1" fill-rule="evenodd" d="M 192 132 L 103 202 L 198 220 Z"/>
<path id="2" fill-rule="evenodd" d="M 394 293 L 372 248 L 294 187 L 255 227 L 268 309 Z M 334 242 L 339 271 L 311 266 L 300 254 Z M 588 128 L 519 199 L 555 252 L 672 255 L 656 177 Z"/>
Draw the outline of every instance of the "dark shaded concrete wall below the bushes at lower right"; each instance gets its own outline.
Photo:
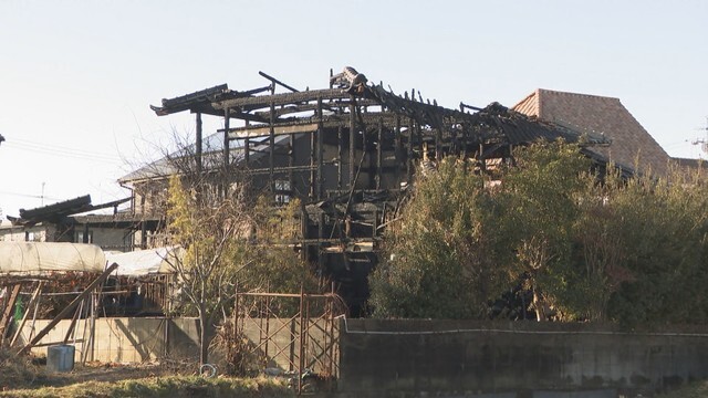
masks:
<path id="1" fill-rule="evenodd" d="M 708 329 L 348 320 L 340 339 L 339 390 L 352 397 L 633 396 L 708 377 Z"/>

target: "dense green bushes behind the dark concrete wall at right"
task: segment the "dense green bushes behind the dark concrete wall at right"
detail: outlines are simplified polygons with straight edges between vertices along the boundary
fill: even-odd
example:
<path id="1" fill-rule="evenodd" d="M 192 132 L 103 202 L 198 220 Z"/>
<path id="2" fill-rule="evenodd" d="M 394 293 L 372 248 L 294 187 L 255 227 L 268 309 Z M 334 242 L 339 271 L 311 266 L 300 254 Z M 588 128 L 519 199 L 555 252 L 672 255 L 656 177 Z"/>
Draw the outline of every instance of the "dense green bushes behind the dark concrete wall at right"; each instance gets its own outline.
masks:
<path id="1" fill-rule="evenodd" d="M 514 160 L 501 184 L 456 158 L 418 178 L 369 279 L 374 316 L 708 320 L 700 172 L 597 176 L 561 142 L 519 148 Z"/>

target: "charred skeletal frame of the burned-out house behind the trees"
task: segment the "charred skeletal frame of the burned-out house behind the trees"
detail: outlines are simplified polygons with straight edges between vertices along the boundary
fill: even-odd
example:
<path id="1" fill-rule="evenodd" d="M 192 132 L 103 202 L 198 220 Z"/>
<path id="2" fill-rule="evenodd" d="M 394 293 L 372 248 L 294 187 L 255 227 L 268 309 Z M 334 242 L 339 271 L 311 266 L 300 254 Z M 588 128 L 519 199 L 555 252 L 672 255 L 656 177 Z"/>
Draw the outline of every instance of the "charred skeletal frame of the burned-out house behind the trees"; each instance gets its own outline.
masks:
<path id="1" fill-rule="evenodd" d="M 478 172 L 493 172 L 514 146 L 581 138 L 572 128 L 530 119 L 497 103 L 448 108 L 415 90 L 394 94 L 351 67 L 337 75 L 330 72 L 329 87 L 306 91 L 260 74 L 269 83 L 262 87 L 223 84 L 152 108 L 158 116 L 195 115 L 198 172 L 238 166 L 273 203 L 301 200 L 301 237 L 292 243 L 335 282 L 353 314 L 367 297 L 382 232 L 398 216 L 416 170 L 435 168 L 454 155 Z M 223 128 L 205 138 L 204 117 L 221 118 Z M 158 160 L 119 180 L 133 189 L 136 213 L 156 213 L 170 172 Z"/>

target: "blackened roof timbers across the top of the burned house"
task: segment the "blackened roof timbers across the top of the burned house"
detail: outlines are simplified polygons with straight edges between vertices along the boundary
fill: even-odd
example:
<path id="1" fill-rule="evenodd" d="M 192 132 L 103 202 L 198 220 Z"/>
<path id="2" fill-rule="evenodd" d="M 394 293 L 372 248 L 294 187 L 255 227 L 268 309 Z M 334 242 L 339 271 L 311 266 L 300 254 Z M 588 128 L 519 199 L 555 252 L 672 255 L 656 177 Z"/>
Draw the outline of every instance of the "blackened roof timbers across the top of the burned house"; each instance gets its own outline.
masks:
<path id="1" fill-rule="evenodd" d="M 460 109 L 439 106 L 436 101 L 424 101 L 416 91 L 404 93 L 404 96 L 383 88 L 383 84 L 371 85 L 363 74 L 352 67 L 345 67 L 337 76 L 330 73 L 330 87 L 322 90 L 298 91 L 279 80 L 260 72 L 271 84 L 246 91 L 229 90 L 227 84 L 198 91 L 184 96 L 163 100 L 162 106 L 150 106 L 159 116 L 190 111 L 197 115 L 196 122 L 196 158 L 201 169 L 201 115 L 208 114 L 223 117 L 222 163 L 229 165 L 230 142 L 242 140 L 243 160 L 253 174 L 268 174 L 271 189 L 277 174 L 292 171 L 311 171 L 310 197 L 312 200 L 323 198 L 322 167 L 323 140 L 334 137 L 342 144 L 348 142 L 350 147 L 340 148 L 339 154 L 347 153 L 348 159 L 339 159 L 340 165 L 348 167 L 348 184 L 354 188 L 358 171 L 356 151 L 361 148 L 373 149 L 375 161 L 367 167 L 375 167 L 376 174 L 383 170 L 383 151 L 393 146 L 396 165 L 405 165 L 407 179 L 414 171 L 414 160 L 423 159 L 424 154 L 431 153 L 437 160 L 447 154 L 462 157 L 475 156 L 478 160 L 497 156 L 502 147 L 523 145 L 544 138 L 553 140 L 564 138 L 577 142 L 580 135 L 569 128 L 532 121 L 509 111 L 499 104 L 478 108 L 460 103 Z M 357 81 L 358 78 L 358 81 Z M 335 85 L 339 85 L 335 87 Z M 288 90 L 275 93 L 277 86 Z M 263 94 L 267 93 L 267 94 Z M 475 109 L 468 113 L 465 109 Z M 232 119 L 240 119 L 243 126 L 232 127 Z M 277 167 L 275 137 L 309 134 L 313 137 L 310 165 Z M 348 134 L 348 139 L 345 135 Z M 357 139 L 357 134 L 362 135 Z M 368 136 L 368 143 L 366 138 Z M 344 139 L 343 139 L 344 138 Z M 602 138 L 592 138 L 590 144 L 600 144 Z M 253 146 L 268 144 L 269 159 L 267 167 L 251 168 L 250 158 Z M 373 144 L 373 145 L 372 145 Z M 341 170 L 340 170 L 341 171 Z M 346 176 L 340 176 L 346 177 Z M 375 189 L 381 189 L 378 181 Z"/>

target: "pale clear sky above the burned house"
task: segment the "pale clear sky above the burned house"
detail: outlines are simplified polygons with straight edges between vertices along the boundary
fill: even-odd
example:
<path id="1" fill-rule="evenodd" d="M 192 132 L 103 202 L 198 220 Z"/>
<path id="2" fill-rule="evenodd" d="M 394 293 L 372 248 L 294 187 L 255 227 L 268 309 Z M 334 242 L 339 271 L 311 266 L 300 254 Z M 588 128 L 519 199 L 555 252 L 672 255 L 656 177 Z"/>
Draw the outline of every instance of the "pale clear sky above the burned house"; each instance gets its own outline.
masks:
<path id="1" fill-rule="evenodd" d="M 221 83 L 327 85 L 356 67 L 456 107 L 535 88 L 618 97 L 671 156 L 707 157 L 708 1 L 0 1 L 0 208 L 90 193 L 159 157 Z M 221 121 L 209 121 L 215 130 Z M 43 197 L 43 198 L 41 198 Z"/>

